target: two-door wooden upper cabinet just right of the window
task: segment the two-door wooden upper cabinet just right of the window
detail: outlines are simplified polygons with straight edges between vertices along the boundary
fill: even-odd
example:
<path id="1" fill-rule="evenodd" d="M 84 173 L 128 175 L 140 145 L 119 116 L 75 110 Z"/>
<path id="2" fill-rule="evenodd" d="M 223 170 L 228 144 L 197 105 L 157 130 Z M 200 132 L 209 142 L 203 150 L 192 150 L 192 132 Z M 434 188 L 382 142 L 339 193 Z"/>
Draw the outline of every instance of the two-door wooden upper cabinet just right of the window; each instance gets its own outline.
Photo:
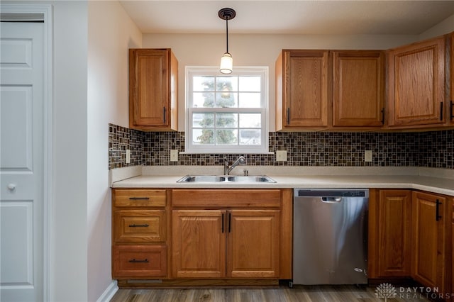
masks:
<path id="1" fill-rule="evenodd" d="M 282 50 L 276 130 L 381 128 L 384 52 Z"/>

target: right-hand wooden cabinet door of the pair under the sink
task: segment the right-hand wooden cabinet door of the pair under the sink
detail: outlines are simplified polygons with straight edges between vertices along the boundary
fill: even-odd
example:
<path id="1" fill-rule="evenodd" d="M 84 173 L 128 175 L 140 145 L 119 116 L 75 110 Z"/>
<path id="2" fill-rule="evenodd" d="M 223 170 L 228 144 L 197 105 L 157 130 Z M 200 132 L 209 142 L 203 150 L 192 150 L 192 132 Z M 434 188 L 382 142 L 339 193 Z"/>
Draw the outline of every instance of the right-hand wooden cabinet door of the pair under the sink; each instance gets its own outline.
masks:
<path id="1" fill-rule="evenodd" d="M 279 210 L 228 211 L 227 276 L 279 276 Z"/>

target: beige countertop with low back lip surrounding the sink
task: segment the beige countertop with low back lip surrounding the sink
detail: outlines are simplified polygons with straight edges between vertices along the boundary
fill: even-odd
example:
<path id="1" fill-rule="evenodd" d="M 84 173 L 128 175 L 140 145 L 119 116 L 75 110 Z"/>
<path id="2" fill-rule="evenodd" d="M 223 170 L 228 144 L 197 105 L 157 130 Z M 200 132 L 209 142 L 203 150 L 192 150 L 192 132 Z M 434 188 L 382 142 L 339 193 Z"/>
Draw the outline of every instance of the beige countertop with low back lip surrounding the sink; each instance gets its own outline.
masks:
<path id="1" fill-rule="evenodd" d="M 123 169 L 123 168 L 122 168 Z M 112 188 L 389 188 L 419 189 L 454 196 L 454 170 L 419 167 L 240 167 L 249 175 L 265 174 L 275 183 L 195 182 L 177 183 L 184 175 L 222 175 L 222 167 L 141 167 L 111 171 Z M 119 174 L 121 174 L 119 176 Z"/>

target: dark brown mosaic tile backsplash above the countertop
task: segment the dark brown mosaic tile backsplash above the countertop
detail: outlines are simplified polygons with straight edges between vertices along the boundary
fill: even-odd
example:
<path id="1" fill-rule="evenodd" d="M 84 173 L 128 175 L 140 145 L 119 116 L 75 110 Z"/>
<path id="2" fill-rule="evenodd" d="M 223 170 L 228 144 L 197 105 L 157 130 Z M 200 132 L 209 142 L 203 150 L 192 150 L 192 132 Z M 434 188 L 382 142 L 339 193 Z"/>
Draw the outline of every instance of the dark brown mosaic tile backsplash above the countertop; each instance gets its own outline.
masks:
<path id="1" fill-rule="evenodd" d="M 421 133 L 270 133 L 270 152 L 287 150 L 287 162 L 275 154 L 244 155 L 248 165 L 262 166 L 414 166 L 454 169 L 454 130 Z M 126 164 L 126 149 L 131 164 Z M 135 165 L 213 166 L 239 155 L 180 154 L 170 162 L 170 150 L 184 151 L 184 132 L 143 132 L 109 124 L 109 169 Z M 372 162 L 364 161 L 372 150 Z"/>

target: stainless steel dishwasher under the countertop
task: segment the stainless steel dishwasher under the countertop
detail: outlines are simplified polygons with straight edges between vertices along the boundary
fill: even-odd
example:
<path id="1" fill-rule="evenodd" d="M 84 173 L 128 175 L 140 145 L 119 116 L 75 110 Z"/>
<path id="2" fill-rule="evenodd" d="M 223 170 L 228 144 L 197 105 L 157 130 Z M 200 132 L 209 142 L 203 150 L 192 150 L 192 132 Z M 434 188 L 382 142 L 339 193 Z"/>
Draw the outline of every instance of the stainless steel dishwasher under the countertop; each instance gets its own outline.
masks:
<path id="1" fill-rule="evenodd" d="M 293 284 L 367 284 L 368 189 L 294 189 Z"/>

